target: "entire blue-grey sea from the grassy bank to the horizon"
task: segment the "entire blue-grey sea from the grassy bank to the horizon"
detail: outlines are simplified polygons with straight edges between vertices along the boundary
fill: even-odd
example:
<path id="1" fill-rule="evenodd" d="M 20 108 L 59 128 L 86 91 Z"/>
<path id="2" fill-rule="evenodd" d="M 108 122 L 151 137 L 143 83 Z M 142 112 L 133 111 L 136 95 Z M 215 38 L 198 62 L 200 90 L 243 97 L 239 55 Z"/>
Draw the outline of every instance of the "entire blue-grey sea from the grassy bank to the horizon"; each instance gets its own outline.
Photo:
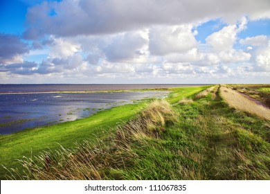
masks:
<path id="1" fill-rule="evenodd" d="M 0 134 L 74 121 L 145 98 L 163 98 L 168 95 L 165 89 L 188 86 L 192 85 L 0 85 Z M 163 90 L 114 91 L 127 89 Z"/>

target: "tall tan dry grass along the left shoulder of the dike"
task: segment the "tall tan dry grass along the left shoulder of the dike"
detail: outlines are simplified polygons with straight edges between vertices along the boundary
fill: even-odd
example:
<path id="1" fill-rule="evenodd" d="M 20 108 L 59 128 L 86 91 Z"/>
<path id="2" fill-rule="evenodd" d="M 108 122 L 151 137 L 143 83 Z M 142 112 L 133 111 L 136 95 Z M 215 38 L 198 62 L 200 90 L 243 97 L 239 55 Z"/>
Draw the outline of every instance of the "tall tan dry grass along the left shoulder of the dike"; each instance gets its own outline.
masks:
<path id="1" fill-rule="evenodd" d="M 134 139 L 159 138 L 165 126 L 177 116 L 165 100 L 154 100 L 137 118 L 118 127 L 105 141 L 84 141 L 75 149 L 50 150 L 34 158 L 21 160 L 24 172 L 10 170 L 8 179 L 122 179 L 114 169 L 133 166 Z M 17 174 L 17 176 L 14 176 Z"/>

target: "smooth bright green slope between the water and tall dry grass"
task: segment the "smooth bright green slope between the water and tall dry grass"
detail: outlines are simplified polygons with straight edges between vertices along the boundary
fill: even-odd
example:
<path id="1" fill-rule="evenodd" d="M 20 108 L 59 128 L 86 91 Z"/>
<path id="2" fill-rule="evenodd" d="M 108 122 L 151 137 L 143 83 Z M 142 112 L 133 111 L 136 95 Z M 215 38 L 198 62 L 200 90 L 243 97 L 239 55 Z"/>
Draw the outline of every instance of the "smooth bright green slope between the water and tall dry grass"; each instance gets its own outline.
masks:
<path id="1" fill-rule="evenodd" d="M 89 118 L 56 125 L 36 127 L 10 135 L 0 136 L 0 161 L 7 168 L 19 168 L 16 159 L 38 155 L 43 150 L 59 149 L 59 143 L 65 148 L 72 148 L 75 142 L 85 139 L 102 139 L 102 130 L 113 131 L 119 123 L 128 121 L 136 115 L 145 103 L 123 105 L 98 112 Z M 100 130 L 102 129 L 102 130 Z M 4 179 L 6 170 L 0 167 L 0 178 Z"/>

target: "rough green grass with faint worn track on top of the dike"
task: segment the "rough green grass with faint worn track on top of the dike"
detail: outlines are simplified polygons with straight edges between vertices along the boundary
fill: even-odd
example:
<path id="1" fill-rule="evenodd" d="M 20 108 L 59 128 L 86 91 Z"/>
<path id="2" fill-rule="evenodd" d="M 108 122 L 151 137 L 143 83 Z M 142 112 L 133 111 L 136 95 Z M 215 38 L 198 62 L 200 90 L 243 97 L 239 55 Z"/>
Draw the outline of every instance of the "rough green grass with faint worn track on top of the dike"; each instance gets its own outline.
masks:
<path id="1" fill-rule="evenodd" d="M 123 178 L 270 179 L 270 122 L 210 96 L 175 104 L 179 121 L 161 139 L 137 139 L 135 165 L 119 170 Z"/>

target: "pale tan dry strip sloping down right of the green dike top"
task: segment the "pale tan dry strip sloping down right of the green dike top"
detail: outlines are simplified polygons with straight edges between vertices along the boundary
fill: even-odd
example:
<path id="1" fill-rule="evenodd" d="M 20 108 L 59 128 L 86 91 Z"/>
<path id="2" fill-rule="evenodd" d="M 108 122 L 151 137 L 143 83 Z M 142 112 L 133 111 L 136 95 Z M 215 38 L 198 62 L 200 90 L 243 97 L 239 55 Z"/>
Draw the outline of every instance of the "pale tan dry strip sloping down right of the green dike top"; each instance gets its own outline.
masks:
<path id="1" fill-rule="evenodd" d="M 262 105 L 258 105 L 252 100 L 242 96 L 237 91 L 234 91 L 231 88 L 220 87 L 220 94 L 230 107 L 270 120 L 270 109 L 263 107 Z"/>

